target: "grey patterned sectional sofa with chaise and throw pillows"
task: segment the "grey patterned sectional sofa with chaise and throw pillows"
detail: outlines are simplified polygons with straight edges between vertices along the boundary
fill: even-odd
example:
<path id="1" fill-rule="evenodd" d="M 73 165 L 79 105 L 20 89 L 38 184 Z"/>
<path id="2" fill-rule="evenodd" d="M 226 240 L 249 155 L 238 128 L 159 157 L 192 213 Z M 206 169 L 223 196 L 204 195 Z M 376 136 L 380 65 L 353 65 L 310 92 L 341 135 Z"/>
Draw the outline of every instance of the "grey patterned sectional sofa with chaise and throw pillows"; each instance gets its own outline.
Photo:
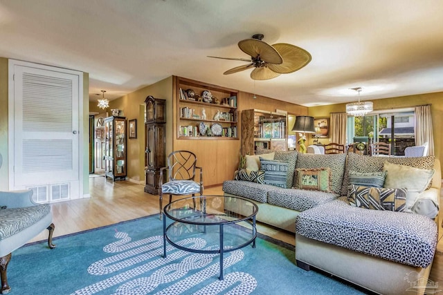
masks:
<path id="1" fill-rule="evenodd" d="M 262 153 L 266 153 L 265 157 L 269 158 L 269 151 Z M 257 160 L 260 155 L 253 157 Z M 256 216 L 258 221 L 295 232 L 299 267 L 306 270 L 311 267 L 321 269 L 379 294 L 423 294 L 426 285 L 428 288 L 433 287 L 428 276 L 438 239 L 437 213 L 441 187 L 439 160 L 433 156 L 382 158 L 354 153 L 314 155 L 275 151 L 273 159 L 267 161 L 266 164 L 266 159 L 260 160 L 264 164 L 264 173 L 246 171 L 248 173 L 244 177 L 250 179 L 242 180 L 242 171 L 237 171 L 236 180 L 224 182 L 224 195 L 252 200 L 259 207 Z M 272 161 L 274 167 L 272 163 L 269 164 Z M 278 172 L 273 171 L 273 168 L 280 162 L 283 165 L 274 170 L 284 172 L 286 169 L 286 185 L 281 179 L 284 173 L 280 173 L 280 182 L 275 180 Z M 266 165 L 271 168 L 268 169 Z M 387 170 L 391 166 L 406 169 L 406 172 Z M 320 173 L 323 172 L 319 170 L 329 171 L 329 187 L 325 189 L 316 184 L 320 185 L 319 189 L 312 189 L 309 185 L 309 189 L 303 186 L 295 189 L 300 188 L 300 182 L 303 181 L 300 175 L 314 171 L 320 179 Z M 390 182 L 392 186 L 392 180 L 401 182 L 406 179 L 404 175 L 410 175 L 410 171 L 432 171 L 428 173 L 432 181 L 426 183 L 421 191 L 417 191 L 414 186 L 422 182 L 419 177 L 414 177 L 413 181 L 408 180 L 406 184 L 401 183 L 409 191 L 396 188 L 395 193 L 391 194 L 395 196 L 395 202 L 392 200 L 392 208 L 389 208 L 397 211 L 377 210 L 370 203 L 350 202 L 350 188 L 357 187 L 358 191 L 365 187 L 353 184 L 357 172 L 363 175 L 357 178 L 363 182 L 372 178 L 365 175 L 384 173 L 386 180 L 383 183 Z M 267 182 L 264 181 L 266 174 L 269 174 Z M 392 191 L 392 188 L 378 189 L 379 194 L 385 191 Z M 406 193 L 407 197 L 401 193 Z M 354 192 L 351 196 L 354 196 L 354 201 L 361 201 L 361 196 L 372 195 Z M 226 198 L 225 209 L 235 211 L 234 202 L 235 198 Z M 394 208 L 397 205 L 398 208 Z"/>

